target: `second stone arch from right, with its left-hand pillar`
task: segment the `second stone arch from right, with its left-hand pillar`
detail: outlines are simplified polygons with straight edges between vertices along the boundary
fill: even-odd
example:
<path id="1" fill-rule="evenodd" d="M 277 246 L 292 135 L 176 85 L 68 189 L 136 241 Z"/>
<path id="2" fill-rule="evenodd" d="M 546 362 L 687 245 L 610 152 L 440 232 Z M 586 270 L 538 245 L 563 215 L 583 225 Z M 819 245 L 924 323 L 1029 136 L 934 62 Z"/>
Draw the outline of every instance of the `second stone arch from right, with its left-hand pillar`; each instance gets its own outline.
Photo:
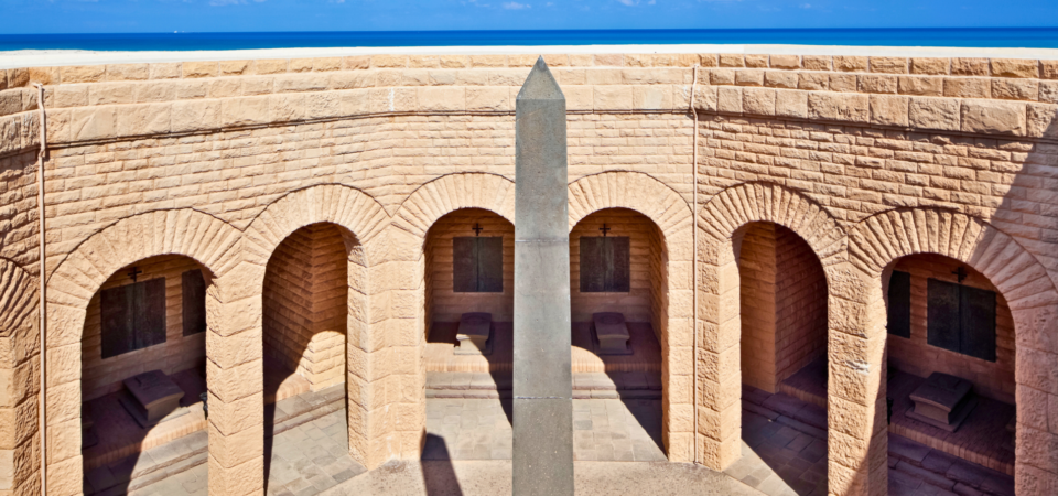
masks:
<path id="1" fill-rule="evenodd" d="M 742 278 L 739 252 L 747 230 L 758 224 L 780 226 L 807 244 L 825 274 L 827 303 L 831 272 L 844 257 L 844 233 L 836 218 L 803 193 L 764 182 L 721 191 L 699 213 L 699 450 L 711 468 L 724 470 L 741 456 L 742 439 Z M 828 324 L 830 326 L 830 324 Z M 829 334 L 829 332 L 828 332 Z"/>

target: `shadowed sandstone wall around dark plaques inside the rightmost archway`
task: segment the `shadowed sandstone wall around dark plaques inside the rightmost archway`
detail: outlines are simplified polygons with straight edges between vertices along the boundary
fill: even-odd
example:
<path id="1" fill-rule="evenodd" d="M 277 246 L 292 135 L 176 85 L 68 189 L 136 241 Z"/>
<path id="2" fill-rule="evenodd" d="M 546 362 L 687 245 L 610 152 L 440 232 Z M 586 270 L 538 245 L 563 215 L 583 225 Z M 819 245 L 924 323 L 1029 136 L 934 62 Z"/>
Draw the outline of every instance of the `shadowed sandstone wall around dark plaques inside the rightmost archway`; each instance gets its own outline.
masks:
<path id="1" fill-rule="evenodd" d="M 896 368 L 929 377 L 935 371 L 963 377 L 973 382 L 979 395 L 1015 402 L 1014 362 L 1015 336 L 1011 308 L 1003 294 L 987 278 L 973 269 L 967 269 L 963 284 L 995 291 L 995 362 L 982 360 L 926 344 L 926 283 L 928 279 L 958 282 L 952 272 L 963 263 L 938 255 L 917 255 L 900 259 L 894 270 L 911 274 L 911 337 L 910 339 L 887 336 L 888 363 Z"/>

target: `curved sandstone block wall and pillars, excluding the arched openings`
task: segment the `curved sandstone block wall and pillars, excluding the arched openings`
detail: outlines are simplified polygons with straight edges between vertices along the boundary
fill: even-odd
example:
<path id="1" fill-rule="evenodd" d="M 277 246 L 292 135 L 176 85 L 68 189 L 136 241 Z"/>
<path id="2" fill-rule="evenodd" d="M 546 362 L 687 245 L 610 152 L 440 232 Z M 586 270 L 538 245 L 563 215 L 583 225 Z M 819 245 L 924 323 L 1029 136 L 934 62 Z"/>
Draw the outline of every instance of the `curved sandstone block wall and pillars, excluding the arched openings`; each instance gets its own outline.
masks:
<path id="1" fill-rule="evenodd" d="M 47 84 L 47 353 L 51 364 L 63 364 L 48 367 L 50 432 L 76 432 L 79 423 L 79 352 L 93 295 L 130 263 L 186 256 L 214 276 L 209 484 L 224 494 L 263 487 L 253 429 L 262 422 L 264 267 L 291 233 L 330 222 L 359 241 L 350 258 L 361 270 L 349 271 L 350 287 L 360 289 L 350 292 L 347 324 L 350 450 L 368 467 L 415 457 L 424 419 L 417 364 L 429 319 L 423 241 L 436 219 L 458 208 L 514 220 L 510 112 L 531 63 L 522 58 L 152 63 L 69 68 L 68 76 L 61 68 L 7 69 L 0 257 L 29 274 L 18 277 L 37 272 L 36 97 L 28 85 Z M 1014 328 L 1013 344 L 1004 345 L 1016 348 L 1018 429 L 1043 441 L 1058 433 L 1058 422 L 1039 413 L 1058 405 L 1052 64 L 551 58 L 566 64 L 555 73 L 570 109 L 570 228 L 602 208 L 623 207 L 663 235 L 667 260 L 656 273 L 665 281 L 654 287 L 666 289 L 654 292 L 650 319 L 666 364 L 662 435 L 670 460 L 721 468 L 737 455 L 738 381 L 731 378 L 741 368 L 741 317 L 731 240 L 754 220 L 795 231 L 827 273 L 829 351 L 845 358 L 830 371 L 832 493 L 885 490 L 881 278 L 908 255 L 959 260 L 998 290 Z M 694 62 L 706 67 L 695 95 L 698 206 L 690 204 L 687 114 Z M 796 76 L 796 87 L 776 74 Z M 894 98 L 907 98 L 906 121 L 904 100 Z M 0 284 L 11 284 L 13 273 L 2 272 Z M 2 292 L 0 305 L 12 298 L 25 294 Z M 35 349 L 35 332 L 21 332 L 3 346 Z M 35 367 L 33 353 L 18 356 L 18 364 Z M 24 474 L 19 490 L 32 493 L 37 382 L 17 384 L 24 387 L 12 395 L 24 407 L 14 424 L 29 444 L 12 461 Z M 997 387 L 1011 390 L 1008 382 Z M 10 402 L 0 397 L 0 405 Z M 1054 492 L 1058 467 L 1048 443 L 1019 453 L 1019 490 Z M 50 493 L 80 487 L 82 462 L 71 448 L 50 435 Z"/>

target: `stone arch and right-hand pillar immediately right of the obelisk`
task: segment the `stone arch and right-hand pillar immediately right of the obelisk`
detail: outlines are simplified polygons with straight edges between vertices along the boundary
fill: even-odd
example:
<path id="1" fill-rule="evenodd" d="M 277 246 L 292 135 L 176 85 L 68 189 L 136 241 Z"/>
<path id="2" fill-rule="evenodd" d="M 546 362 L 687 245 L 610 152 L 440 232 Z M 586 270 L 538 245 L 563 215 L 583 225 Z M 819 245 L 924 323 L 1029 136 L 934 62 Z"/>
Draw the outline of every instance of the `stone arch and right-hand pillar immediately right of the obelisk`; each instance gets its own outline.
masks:
<path id="1" fill-rule="evenodd" d="M 690 367 L 694 298 L 692 213 L 683 197 L 665 183 L 639 172 L 587 175 L 569 185 L 570 231 L 600 215 L 634 213 L 658 234 L 649 303 L 650 322 L 661 345 L 661 443 L 673 462 L 693 456 L 693 393 Z M 631 217 L 629 217 L 631 218 Z M 634 218 L 631 218 L 634 220 Z M 571 239 L 575 247 L 575 240 Z M 571 260 L 572 261 L 572 260 Z M 575 276 L 575 274 L 571 274 Z M 571 288 L 572 290 L 572 288 Z"/>

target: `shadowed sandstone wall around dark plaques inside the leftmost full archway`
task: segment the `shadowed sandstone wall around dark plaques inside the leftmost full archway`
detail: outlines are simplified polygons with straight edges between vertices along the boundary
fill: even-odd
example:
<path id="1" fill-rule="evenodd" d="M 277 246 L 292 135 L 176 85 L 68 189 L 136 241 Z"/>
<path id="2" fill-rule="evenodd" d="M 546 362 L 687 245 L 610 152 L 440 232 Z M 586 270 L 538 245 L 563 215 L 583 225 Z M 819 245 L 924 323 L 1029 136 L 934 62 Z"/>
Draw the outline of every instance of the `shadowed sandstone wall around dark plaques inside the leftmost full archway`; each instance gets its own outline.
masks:
<path id="1" fill-rule="evenodd" d="M 128 273 L 132 266 L 123 267 L 111 274 L 88 302 L 88 314 L 82 339 L 82 398 L 84 401 L 120 391 L 122 380 L 150 370 L 174 374 L 193 367 L 205 367 L 206 334 L 184 336 L 183 296 L 181 274 L 202 269 L 187 257 L 163 255 L 136 262 L 143 271 L 138 281 L 165 278 L 165 342 L 102 358 L 101 322 L 99 299 L 102 290 L 131 284 Z M 208 278 L 208 273 L 203 271 Z M 207 279 L 208 280 L 208 279 Z"/>

